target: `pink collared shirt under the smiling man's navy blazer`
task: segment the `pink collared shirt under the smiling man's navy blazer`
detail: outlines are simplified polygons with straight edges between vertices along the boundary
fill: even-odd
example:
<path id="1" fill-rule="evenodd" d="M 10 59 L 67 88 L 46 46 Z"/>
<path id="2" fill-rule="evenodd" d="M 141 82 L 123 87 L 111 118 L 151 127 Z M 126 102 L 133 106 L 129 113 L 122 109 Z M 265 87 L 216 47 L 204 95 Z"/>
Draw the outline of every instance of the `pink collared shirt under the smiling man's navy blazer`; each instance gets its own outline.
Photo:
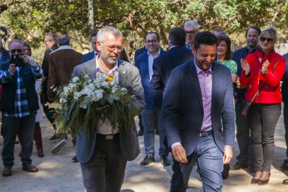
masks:
<path id="1" fill-rule="evenodd" d="M 211 66 L 209 70 L 203 72 L 198 65 L 196 65 L 194 61 L 194 65 L 196 67 L 196 72 L 198 74 L 198 79 L 201 88 L 202 95 L 202 104 L 203 104 L 203 122 L 201 131 L 209 131 L 212 129 L 211 122 L 211 102 L 212 102 L 212 71 Z"/>

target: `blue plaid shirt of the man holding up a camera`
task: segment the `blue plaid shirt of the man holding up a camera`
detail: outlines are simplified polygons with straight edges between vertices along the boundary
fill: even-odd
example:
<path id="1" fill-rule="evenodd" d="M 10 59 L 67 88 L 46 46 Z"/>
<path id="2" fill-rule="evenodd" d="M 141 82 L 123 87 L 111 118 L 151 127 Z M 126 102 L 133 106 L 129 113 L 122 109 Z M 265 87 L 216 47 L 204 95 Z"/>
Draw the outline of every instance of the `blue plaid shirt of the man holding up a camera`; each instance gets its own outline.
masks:
<path id="1" fill-rule="evenodd" d="M 26 64 L 29 65 L 29 64 Z M 26 95 L 26 88 L 24 86 L 24 81 L 20 76 L 21 67 L 16 67 L 16 72 L 14 75 L 17 75 L 17 90 L 16 90 L 16 98 L 15 98 L 15 113 L 7 113 L 4 112 L 3 116 L 5 117 L 15 117 L 22 118 L 24 116 L 30 115 L 28 100 Z M 35 67 L 31 67 L 31 71 L 35 76 L 39 76 L 42 74 L 42 70 L 40 70 L 40 66 L 36 65 Z M 10 70 L 5 72 L 0 71 L 2 83 L 6 83 L 12 78 L 12 74 L 10 74 Z M 35 86 L 35 85 L 28 85 Z"/>

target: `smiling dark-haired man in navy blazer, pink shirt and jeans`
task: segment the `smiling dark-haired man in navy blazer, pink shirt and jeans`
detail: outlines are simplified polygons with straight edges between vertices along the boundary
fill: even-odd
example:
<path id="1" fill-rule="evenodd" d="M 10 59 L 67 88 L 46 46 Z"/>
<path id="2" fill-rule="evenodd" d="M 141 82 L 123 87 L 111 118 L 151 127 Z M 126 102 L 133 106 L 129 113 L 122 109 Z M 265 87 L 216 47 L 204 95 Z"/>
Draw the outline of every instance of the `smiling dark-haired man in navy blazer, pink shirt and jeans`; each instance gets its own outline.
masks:
<path id="1" fill-rule="evenodd" d="M 213 33 L 198 33 L 194 59 L 175 68 L 168 81 L 162 115 L 174 158 L 170 191 L 186 191 L 196 161 L 204 191 L 221 191 L 223 163 L 232 159 L 232 79 L 227 67 L 214 63 L 216 43 Z"/>

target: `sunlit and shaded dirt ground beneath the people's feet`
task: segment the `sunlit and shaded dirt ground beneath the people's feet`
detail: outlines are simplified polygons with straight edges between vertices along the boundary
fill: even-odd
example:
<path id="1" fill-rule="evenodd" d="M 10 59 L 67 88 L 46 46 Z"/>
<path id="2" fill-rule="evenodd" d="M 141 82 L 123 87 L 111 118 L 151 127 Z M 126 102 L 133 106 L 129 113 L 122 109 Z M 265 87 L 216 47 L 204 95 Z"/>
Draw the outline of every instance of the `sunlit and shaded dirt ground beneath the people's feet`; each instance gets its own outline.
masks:
<path id="1" fill-rule="evenodd" d="M 19 145 L 15 145 L 15 165 L 11 177 L 0 176 L 0 191 L 85 191 L 81 177 L 79 163 L 72 163 L 74 149 L 71 138 L 58 154 L 51 154 L 50 150 L 58 141 L 49 141 L 54 130 L 49 125 L 47 119 L 41 122 L 42 136 L 44 142 L 45 157 L 37 157 L 35 147 L 33 149 L 33 165 L 39 169 L 38 173 L 27 173 L 22 170 L 22 165 L 17 156 L 20 150 Z M 266 186 L 251 185 L 250 175 L 246 170 L 230 171 L 230 177 L 223 182 L 223 191 L 288 191 L 288 185 L 282 184 L 283 179 L 288 179 L 288 171 L 281 172 L 278 168 L 285 159 L 284 125 L 282 115 L 278 122 L 275 134 L 275 158 L 271 170 L 271 180 Z M 157 143 L 159 142 L 158 136 Z M 135 161 L 127 163 L 125 181 L 122 185 L 123 192 L 164 192 L 169 191 L 169 181 L 172 175 L 171 167 L 161 166 L 160 157 L 156 155 L 156 163 L 149 166 L 140 166 L 140 162 L 145 157 L 143 149 L 143 136 L 139 137 L 141 144 L 141 154 Z M 0 137 L 0 152 L 2 152 L 3 138 Z M 158 150 L 159 145 L 155 147 Z M 155 154 L 158 154 L 156 150 Z M 238 145 L 234 147 L 234 157 L 238 154 Z M 233 159 L 232 163 L 235 162 Z M 2 168 L 0 168 L 2 170 Z M 202 191 L 202 182 L 193 168 L 191 186 L 187 191 Z"/>

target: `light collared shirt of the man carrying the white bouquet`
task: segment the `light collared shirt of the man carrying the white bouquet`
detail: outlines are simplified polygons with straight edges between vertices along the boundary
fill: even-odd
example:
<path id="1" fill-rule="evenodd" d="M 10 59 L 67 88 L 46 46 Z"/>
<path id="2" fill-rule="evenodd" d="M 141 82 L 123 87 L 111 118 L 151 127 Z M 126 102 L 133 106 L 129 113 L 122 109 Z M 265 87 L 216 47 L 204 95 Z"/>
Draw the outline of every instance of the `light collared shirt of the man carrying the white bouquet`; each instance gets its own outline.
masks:
<path id="1" fill-rule="evenodd" d="M 96 77 L 99 77 L 102 74 L 108 74 L 108 75 L 113 76 L 113 81 L 111 81 L 111 83 L 119 83 L 118 61 L 114 64 L 114 67 L 108 73 L 106 73 L 102 71 L 98 65 L 98 56 L 99 55 L 97 55 L 96 57 Z M 119 127 L 117 126 L 116 129 L 113 131 L 113 134 L 118 134 L 119 132 L 120 132 Z M 108 119 L 106 119 L 104 122 L 102 122 L 102 120 L 98 120 L 96 133 L 103 134 L 103 135 L 112 134 L 112 126 Z"/>

